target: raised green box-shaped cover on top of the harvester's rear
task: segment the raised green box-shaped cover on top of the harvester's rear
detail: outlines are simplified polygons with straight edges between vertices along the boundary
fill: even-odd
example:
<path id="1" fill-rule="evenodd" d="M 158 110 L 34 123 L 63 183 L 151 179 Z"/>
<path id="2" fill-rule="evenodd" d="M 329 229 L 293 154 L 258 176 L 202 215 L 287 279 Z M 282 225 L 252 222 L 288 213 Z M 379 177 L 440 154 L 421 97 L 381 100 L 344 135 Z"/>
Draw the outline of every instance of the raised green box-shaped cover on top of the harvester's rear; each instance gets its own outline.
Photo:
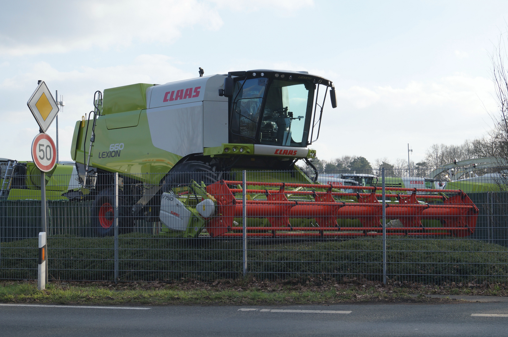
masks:
<path id="1" fill-rule="evenodd" d="M 146 89 L 154 84 L 137 83 L 104 90 L 101 115 L 146 109 Z"/>

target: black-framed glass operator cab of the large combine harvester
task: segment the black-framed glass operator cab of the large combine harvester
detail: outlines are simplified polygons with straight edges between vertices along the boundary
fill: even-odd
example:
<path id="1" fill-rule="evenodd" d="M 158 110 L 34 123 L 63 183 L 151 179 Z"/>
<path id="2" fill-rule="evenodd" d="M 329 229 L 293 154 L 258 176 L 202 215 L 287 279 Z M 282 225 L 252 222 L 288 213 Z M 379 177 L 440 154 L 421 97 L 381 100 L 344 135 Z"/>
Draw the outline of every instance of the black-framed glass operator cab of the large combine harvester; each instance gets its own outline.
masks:
<path id="1" fill-rule="evenodd" d="M 262 69 L 229 75 L 234 80 L 229 100 L 231 143 L 306 147 L 319 136 L 329 88 L 332 106 L 336 106 L 332 82 L 306 71 Z"/>

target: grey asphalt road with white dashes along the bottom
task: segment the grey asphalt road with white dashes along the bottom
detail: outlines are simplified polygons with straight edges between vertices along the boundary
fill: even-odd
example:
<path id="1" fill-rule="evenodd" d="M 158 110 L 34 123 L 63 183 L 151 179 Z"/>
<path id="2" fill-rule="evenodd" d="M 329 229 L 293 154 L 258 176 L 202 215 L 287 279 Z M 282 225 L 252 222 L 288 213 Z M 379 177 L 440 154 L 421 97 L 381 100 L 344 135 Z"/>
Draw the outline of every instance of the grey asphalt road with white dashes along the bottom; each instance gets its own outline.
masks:
<path id="1" fill-rule="evenodd" d="M 259 307 L 0 305 L 0 336 L 312 335 L 508 336 L 508 303 Z"/>

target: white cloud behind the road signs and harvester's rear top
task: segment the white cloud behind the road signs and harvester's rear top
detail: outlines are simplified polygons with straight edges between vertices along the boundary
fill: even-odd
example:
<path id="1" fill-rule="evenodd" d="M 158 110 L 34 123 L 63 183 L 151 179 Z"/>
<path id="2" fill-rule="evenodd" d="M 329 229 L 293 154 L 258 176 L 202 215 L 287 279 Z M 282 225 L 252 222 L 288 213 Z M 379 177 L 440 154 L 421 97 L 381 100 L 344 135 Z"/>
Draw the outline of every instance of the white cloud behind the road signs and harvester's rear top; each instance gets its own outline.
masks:
<path id="1" fill-rule="evenodd" d="M 140 55 L 131 62 L 109 67 L 81 67 L 77 70 L 59 71 L 47 62 L 37 62 L 24 73 L 16 74 L 0 82 L 0 99 L 7 102 L 0 110 L 4 128 L 2 157 L 29 160 L 31 140 L 38 133 L 37 123 L 26 107 L 26 100 L 37 87 L 37 79 L 50 86 L 51 93 L 58 89 L 66 106 L 58 114 L 60 160 L 70 160 L 70 144 L 76 121 L 87 116 L 93 108 L 96 90 L 133 83 L 162 84 L 195 77 L 178 68 L 177 62 L 165 55 Z M 48 131 L 55 136 L 55 123 Z"/>

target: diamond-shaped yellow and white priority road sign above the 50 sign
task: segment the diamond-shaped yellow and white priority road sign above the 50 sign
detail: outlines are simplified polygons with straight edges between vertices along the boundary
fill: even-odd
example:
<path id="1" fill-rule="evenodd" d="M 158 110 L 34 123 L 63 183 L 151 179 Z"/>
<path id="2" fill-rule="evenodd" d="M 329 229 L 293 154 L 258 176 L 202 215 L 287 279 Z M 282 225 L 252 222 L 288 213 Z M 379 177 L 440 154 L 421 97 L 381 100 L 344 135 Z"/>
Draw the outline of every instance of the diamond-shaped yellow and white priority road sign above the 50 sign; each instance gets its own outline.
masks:
<path id="1" fill-rule="evenodd" d="M 46 132 L 58 114 L 59 108 L 44 81 L 41 81 L 26 105 L 34 115 L 42 132 Z"/>

